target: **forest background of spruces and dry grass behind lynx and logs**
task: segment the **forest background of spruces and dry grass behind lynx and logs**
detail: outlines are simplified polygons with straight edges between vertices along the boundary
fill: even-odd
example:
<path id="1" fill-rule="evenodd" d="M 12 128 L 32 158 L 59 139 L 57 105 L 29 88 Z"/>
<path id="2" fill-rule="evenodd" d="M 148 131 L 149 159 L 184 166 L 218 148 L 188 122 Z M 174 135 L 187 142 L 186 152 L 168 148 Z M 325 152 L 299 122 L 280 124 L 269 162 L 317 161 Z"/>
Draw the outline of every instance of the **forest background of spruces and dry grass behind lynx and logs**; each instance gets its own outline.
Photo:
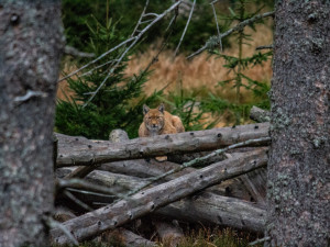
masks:
<path id="1" fill-rule="evenodd" d="M 162 13 L 170 4 L 172 1 L 150 1 L 147 12 Z M 258 13 L 272 11 L 273 4 L 271 0 L 213 3 L 220 33 Z M 100 56 L 130 37 L 144 7 L 144 0 L 64 0 L 67 45 Z M 210 46 L 207 52 L 187 59 L 217 35 L 212 4 L 197 1 L 175 55 L 193 1 L 185 1 L 174 25 L 168 25 L 172 18 L 168 14 L 146 32 L 88 104 L 90 93 L 109 71 L 108 66 L 125 47 L 109 54 L 79 77 L 62 80 L 57 92 L 56 131 L 107 139 L 113 128 L 123 128 L 131 138 L 136 137 L 144 103 L 155 108 L 165 102 L 167 111 L 183 119 L 187 131 L 249 123 L 252 105 L 270 109 L 272 50 L 256 50 L 256 47 L 273 43 L 273 20 L 253 23 L 223 38 L 221 48 Z M 65 56 L 61 77 L 91 59 Z"/>

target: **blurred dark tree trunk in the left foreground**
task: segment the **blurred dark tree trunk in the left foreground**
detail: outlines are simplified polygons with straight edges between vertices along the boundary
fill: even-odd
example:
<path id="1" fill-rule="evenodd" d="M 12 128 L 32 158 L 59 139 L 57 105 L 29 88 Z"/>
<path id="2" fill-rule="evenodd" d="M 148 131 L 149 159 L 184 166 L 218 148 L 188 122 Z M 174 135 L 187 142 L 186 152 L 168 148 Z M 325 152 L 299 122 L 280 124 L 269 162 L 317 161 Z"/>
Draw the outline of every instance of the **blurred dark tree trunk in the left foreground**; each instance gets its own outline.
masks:
<path id="1" fill-rule="evenodd" d="M 47 246 L 61 1 L 0 1 L 0 246 Z"/>

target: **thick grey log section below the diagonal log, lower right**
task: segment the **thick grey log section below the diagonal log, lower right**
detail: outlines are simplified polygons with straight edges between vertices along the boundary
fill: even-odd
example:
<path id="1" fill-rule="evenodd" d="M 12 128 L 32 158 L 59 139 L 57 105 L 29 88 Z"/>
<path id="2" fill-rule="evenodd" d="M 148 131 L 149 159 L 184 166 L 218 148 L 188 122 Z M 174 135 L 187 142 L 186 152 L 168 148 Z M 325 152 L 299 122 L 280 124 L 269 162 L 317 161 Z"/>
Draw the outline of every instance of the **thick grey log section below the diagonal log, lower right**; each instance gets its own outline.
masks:
<path id="1" fill-rule="evenodd" d="M 263 233 L 266 211 L 240 199 L 202 192 L 156 210 L 155 214 Z"/>

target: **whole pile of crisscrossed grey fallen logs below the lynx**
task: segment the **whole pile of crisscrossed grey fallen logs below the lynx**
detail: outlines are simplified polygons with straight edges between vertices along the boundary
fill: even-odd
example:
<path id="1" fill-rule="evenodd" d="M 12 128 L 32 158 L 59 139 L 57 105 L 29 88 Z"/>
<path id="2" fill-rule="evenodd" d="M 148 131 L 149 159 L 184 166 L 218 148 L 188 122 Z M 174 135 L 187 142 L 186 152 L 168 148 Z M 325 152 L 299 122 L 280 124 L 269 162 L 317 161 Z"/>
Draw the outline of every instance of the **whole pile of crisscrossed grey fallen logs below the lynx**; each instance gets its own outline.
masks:
<path id="1" fill-rule="evenodd" d="M 62 223 L 52 222 L 52 242 L 78 244 L 107 232 L 102 237 L 128 246 L 154 246 L 132 231 L 145 215 L 173 246 L 183 236 L 179 222 L 263 233 L 268 128 L 265 122 L 135 139 L 117 130 L 110 141 L 55 134 Z"/>

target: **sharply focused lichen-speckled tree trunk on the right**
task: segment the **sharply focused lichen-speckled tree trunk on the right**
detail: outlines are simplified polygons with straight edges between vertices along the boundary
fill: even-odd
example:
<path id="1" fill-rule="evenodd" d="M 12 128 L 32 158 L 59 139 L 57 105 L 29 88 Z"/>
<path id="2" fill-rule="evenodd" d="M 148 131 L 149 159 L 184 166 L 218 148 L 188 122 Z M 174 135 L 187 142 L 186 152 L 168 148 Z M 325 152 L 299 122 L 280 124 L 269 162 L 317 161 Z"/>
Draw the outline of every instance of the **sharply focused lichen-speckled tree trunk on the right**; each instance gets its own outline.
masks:
<path id="1" fill-rule="evenodd" d="M 329 243 L 329 1 L 277 1 L 265 246 Z"/>

